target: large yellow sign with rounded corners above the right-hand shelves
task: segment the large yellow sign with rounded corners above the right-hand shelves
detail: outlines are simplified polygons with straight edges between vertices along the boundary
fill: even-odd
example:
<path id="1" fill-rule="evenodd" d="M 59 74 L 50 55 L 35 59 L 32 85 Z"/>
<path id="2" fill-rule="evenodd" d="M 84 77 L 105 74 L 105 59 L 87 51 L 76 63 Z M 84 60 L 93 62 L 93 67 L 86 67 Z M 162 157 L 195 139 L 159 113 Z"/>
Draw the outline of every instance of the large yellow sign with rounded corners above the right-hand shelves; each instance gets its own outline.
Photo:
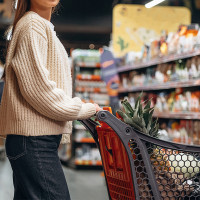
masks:
<path id="1" fill-rule="evenodd" d="M 185 7 L 146 8 L 141 5 L 118 4 L 113 10 L 113 51 L 123 56 L 141 51 L 144 44 L 160 38 L 161 32 L 176 32 L 180 24 L 191 23 Z"/>

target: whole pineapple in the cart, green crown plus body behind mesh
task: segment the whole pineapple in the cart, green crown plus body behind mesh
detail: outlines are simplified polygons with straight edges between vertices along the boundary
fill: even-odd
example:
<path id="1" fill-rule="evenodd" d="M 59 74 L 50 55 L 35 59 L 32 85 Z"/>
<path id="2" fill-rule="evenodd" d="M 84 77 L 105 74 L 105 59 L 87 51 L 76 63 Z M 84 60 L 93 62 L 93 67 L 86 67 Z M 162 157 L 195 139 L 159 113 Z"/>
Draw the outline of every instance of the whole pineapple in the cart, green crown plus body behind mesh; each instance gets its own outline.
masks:
<path id="1" fill-rule="evenodd" d="M 123 100 L 121 103 L 123 105 L 124 112 L 122 110 L 118 110 L 117 113 L 121 116 L 125 123 L 129 124 L 134 129 L 151 137 L 158 138 L 158 119 L 155 121 L 152 119 L 154 107 L 151 107 L 151 100 L 148 100 L 146 105 L 143 106 L 145 102 L 141 103 L 141 98 L 142 93 L 138 96 L 134 108 L 131 107 L 127 99 Z M 165 185 L 166 182 L 169 182 L 170 180 L 170 163 L 168 161 L 168 155 L 165 154 L 165 151 L 163 151 L 162 148 L 151 143 L 147 142 L 146 146 L 156 174 L 156 180 L 159 184 Z M 148 177 L 145 173 L 142 156 L 134 140 L 130 141 L 130 149 L 133 154 L 133 159 L 135 160 L 137 181 L 143 182 L 143 185 L 139 185 L 140 196 L 143 196 L 144 187 L 145 191 L 147 191 L 151 196 L 150 188 L 148 188 Z M 138 171 L 138 169 L 140 169 L 138 166 L 143 168 L 143 172 Z M 174 186 L 174 184 L 172 185 Z M 163 188 L 159 189 L 162 191 Z M 171 190 L 171 188 L 168 190 Z"/>

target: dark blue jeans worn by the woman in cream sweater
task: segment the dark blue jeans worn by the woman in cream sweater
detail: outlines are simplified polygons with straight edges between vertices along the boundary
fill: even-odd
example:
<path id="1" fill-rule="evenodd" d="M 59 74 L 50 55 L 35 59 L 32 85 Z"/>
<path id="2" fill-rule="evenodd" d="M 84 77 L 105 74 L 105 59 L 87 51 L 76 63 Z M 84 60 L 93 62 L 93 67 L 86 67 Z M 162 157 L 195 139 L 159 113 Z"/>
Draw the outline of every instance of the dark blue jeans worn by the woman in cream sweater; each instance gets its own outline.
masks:
<path id="1" fill-rule="evenodd" d="M 6 154 L 13 170 L 14 200 L 70 200 L 58 157 L 62 135 L 8 135 Z"/>

